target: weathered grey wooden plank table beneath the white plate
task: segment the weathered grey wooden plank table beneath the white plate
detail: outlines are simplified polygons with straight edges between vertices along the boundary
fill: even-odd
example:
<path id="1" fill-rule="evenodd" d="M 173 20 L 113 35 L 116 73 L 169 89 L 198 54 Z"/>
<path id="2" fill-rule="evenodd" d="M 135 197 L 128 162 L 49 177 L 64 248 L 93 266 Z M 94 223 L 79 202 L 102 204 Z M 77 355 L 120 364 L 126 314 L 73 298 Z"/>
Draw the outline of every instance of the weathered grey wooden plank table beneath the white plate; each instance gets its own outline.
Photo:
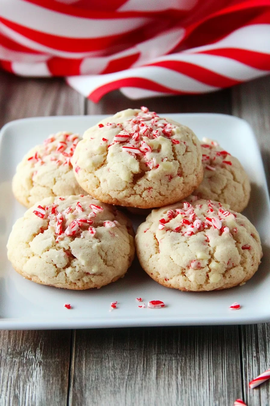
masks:
<path id="1" fill-rule="evenodd" d="M 113 114 L 144 104 L 157 112 L 218 112 L 249 121 L 270 168 L 270 78 L 217 93 L 132 101 L 118 91 L 93 104 L 62 79 L 0 73 L 0 120 Z M 237 134 L 236 134 L 237 136 Z M 243 146 L 244 147 L 244 146 Z M 0 298 L 1 299 L 1 298 Z M 1 331 L 1 406 L 269 406 L 270 326 Z"/>

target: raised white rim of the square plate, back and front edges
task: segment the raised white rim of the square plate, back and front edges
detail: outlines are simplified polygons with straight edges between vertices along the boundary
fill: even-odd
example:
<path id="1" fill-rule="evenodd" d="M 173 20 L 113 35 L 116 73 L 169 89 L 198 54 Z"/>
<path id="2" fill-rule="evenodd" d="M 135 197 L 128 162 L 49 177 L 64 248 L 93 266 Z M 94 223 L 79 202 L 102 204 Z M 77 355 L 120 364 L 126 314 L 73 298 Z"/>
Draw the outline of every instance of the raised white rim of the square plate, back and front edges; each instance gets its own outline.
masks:
<path id="1" fill-rule="evenodd" d="M 254 130 L 251 125 L 244 119 L 236 117 L 230 114 L 223 113 L 159 113 L 161 116 L 173 116 L 180 115 L 185 117 L 226 117 L 231 121 L 238 121 L 244 124 L 250 131 L 251 136 L 256 144 L 257 151 L 259 154 L 259 166 L 263 173 L 261 179 L 262 186 L 266 192 L 266 202 L 268 210 L 270 212 L 270 196 L 268 189 L 268 181 L 266 176 L 266 171 L 264 170 L 264 162 L 261 156 L 261 150 L 257 138 L 255 136 Z M 9 121 L 0 130 L 0 149 L 2 147 L 2 140 L 7 131 L 14 125 L 19 125 L 23 123 L 38 122 L 38 121 L 57 121 L 63 119 L 85 119 L 91 117 L 97 119 L 110 117 L 111 114 L 90 114 L 90 115 L 61 115 L 61 116 L 46 116 L 46 117 L 27 117 L 22 119 L 16 119 Z M 70 317 L 66 319 L 61 319 L 60 317 L 48 319 L 43 319 L 41 322 L 36 319 L 36 317 L 14 317 L 5 318 L 0 317 L 0 330 L 42 330 L 42 329 L 73 329 L 73 328 L 117 328 L 117 327 L 153 327 L 153 326 L 206 326 L 206 325 L 234 325 L 234 324 L 257 324 L 270 322 L 270 312 L 269 314 L 260 314 L 258 316 L 252 315 L 227 315 L 227 316 L 202 316 L 203 319 L 199 320 L 201 316 L 188 316 L 188 317 L 176 317 L 176 316 L 154 316 L 141 318 L 139 316 L 126 318 L 126 317 L 116 317 L 116 318 L 99 318 L 91 319 L 87 317 Z M 193 320 L 194 319 L 194 320 Z"/>

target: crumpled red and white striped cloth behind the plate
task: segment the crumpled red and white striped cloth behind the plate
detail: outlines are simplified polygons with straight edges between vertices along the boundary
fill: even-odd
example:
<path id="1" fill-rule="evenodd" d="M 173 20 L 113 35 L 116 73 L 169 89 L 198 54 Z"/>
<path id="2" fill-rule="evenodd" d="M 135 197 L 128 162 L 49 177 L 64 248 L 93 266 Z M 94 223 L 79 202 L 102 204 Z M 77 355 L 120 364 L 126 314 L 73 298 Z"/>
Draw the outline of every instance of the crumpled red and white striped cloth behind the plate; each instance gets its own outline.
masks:
<path id="1" fill-rule="evenodd" d="M 211 92 L 270 72 L 270 1 L 2 0 L 0 65 L 94 102 Z"/>

